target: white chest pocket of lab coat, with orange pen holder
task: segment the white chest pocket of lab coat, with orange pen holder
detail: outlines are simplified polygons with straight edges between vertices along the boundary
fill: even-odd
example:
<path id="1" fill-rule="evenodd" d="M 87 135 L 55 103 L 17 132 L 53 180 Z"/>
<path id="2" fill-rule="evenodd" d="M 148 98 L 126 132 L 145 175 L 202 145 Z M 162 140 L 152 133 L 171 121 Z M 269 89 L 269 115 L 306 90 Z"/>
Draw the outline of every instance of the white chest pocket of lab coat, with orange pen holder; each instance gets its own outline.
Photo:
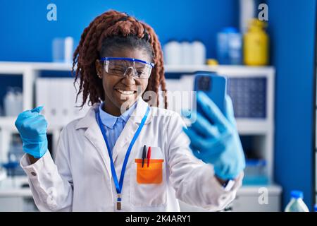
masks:
<path id="1" fill-rule="evenodd" d="M 164 155 L 159 147 L 151 147 L 151 151 L 149 166 L 145 159 L 142 167 L 142 154 L 133 162 L 130 197 L 135 207 L 164 206 L 167 202 Z"/>

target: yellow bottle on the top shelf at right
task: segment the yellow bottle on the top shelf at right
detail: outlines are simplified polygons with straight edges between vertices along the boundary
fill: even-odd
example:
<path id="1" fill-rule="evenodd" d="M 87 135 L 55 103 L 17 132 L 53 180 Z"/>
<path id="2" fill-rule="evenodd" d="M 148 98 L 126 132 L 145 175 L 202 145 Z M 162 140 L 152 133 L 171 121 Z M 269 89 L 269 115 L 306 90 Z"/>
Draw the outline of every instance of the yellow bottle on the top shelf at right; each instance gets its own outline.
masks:
<path id="1" fill-rule="evenodd" d="M 244 64 L 263 66 L 268 64 L 268 35 L 266 23 L 256 18 L 250 20 L 249 29 L 243 37 Z"/>

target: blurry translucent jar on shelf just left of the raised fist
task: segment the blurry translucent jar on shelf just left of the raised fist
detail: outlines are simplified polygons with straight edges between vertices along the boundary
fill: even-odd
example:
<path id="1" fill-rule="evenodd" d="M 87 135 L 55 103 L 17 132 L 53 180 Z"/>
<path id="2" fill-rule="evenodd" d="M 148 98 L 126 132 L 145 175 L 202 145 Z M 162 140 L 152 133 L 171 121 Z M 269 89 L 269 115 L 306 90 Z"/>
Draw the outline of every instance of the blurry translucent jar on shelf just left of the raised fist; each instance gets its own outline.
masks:
<path id="1" fill-rule="evenodd" d="M 9 87 L 4 96 L 4 114 L 7 117 L 17 116 L 23 111 L 23 95 L 21 88 Z"/>

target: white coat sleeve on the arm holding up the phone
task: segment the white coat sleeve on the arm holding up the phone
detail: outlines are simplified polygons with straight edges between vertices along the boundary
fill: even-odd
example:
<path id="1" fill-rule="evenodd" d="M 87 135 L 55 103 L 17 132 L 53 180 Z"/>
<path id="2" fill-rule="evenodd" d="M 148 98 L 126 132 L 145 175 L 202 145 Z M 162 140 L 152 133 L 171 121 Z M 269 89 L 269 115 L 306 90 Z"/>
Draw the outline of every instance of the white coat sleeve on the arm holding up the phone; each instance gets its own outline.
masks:
<path id="1" fill-rule="evenodd" d="M 227 191 L 215 176 L 213 165 L 197 159 L 189 148 L 189 138 L 182 128 L 184 121 L 173 114 L 168 124 L 169 180 L 181 201 L 208 210 L 222 210 L 231 203 L 242 185 L 243 172 Z"/>

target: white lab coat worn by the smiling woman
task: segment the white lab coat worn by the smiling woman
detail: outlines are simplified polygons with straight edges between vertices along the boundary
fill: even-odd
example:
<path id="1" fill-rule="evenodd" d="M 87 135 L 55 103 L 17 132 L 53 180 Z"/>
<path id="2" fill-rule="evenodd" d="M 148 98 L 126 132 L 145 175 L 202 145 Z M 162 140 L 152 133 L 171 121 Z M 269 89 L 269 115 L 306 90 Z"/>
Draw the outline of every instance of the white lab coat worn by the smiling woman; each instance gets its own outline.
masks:
<path id="1" fill-rule="evenodd" d="M 106 143 L 97 124 L 94 104 L 85 117 L 70 122 L 61 132 L 55 162 L 49 151 L 30 165 L 20 161 L 37 208 L 42 211 L 116 211 L 116 187 Z M 138 99 L 116 145 L 113 162 L 118 179 L 125 153 L 147 110 Z M 123 211 L 179 211 L 178 199 L 193 206 L 220 210 L 230 203 L 241 186 L 242 174 L 225 191 L 214 177 L 213 166 L 198 160 L 189 149 L 189 138 L 179 114 L 150 107 L 149 116 L 135 141 L 122 189 Z M 151 160 L 141 167 L 144 145 L 151 146 Z"/>

